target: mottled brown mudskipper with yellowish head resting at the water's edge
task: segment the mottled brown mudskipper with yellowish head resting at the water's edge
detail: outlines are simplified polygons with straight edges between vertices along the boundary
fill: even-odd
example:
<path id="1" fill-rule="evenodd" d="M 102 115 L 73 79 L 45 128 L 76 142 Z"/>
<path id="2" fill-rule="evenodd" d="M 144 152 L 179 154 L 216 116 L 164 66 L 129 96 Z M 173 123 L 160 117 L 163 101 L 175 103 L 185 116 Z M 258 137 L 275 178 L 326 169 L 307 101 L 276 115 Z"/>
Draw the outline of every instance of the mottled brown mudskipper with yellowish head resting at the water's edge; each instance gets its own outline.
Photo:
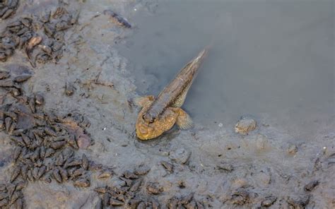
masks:
<path id="1" fill-rule="evenodd" d="M 142 107 L 136 121 L 138 138 L 141 140 L 156 138 L 175 124 L 180 129 L 192 128 L 191 117 L 181 107 L 207 53 L 208 49 L 205 48 L 189 61 L 158 97 L 148 95 L 134 100 L 136 105 Z"/>

